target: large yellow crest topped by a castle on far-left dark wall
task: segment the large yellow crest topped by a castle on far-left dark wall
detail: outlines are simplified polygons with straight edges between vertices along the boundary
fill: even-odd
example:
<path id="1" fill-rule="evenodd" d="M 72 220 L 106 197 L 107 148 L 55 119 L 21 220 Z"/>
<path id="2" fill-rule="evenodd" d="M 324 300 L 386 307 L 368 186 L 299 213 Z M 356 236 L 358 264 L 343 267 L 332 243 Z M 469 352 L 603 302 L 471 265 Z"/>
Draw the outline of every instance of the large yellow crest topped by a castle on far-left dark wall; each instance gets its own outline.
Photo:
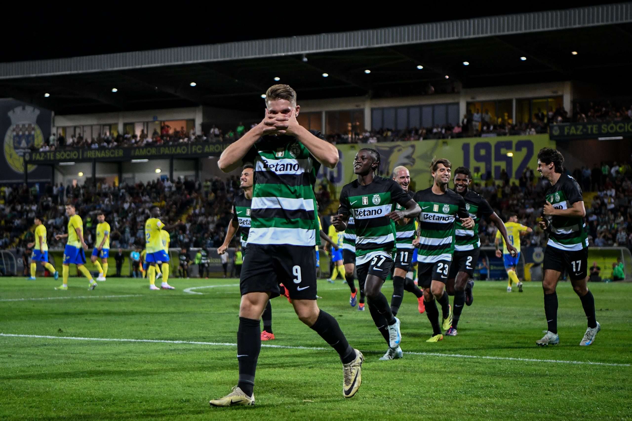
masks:
<path id="1" fill-rule="evenodd" d="M 15 107 L 8 113 L 11 126 L 4 135 L 4 157 L 11 168 L 16 172 L 24 171 L 24 156 L 31 148 L 39 149 L 44 143 L 42 130 L 37 126 L 37 116 L 40 110 L 35 107 Z M 35 165 L 29 165 L 28 171 L 35 169 Z"/>

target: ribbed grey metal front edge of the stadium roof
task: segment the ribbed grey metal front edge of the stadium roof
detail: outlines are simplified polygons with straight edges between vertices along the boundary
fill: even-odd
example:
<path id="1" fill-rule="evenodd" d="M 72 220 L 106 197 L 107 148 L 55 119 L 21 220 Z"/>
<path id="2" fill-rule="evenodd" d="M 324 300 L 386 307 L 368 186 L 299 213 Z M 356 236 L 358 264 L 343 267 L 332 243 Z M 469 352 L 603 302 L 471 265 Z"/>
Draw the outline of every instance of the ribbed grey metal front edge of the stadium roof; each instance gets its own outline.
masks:
<path id="1" fill-rule="evenodd" d="M 0 79 L 220 62 L 498 37 L 632 22 L 632 3 L 420 23 L 300 37 L 195 45 L 98 56 L 0 63 Z"/>

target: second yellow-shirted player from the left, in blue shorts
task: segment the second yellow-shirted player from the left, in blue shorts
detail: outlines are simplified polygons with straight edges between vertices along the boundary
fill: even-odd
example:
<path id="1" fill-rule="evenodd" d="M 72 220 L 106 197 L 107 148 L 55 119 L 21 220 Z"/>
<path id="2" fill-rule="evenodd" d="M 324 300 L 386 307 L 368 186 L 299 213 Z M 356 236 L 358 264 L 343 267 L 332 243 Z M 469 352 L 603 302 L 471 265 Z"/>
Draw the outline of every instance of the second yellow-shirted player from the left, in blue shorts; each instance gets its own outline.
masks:
<path id="1" fill-rule="evenodd" d="M 68 234 L 55 235 L 56 239 L 67 238 L 66 248 L 64 249 L 64 259 L 62 261 L 61 273 L 63 276 L 63 284 L 56 287 L 56 290 L 68 289 L 68 271 L 70 271 L 70 264 L 76 264 L 77 270 L 83 273 L 88 278 L 90 285 L 88 290 L 94 290 L 97 287 L 97 282 L 92 279 L 90 271 L 83 266 L 85 264 L 85 250 L 88 249 L 88 245 L 83 240 L 83 221 L 81 216 L 77 215 L 75 205 L 66 205 L 66 215 L 68 215 Z"/>

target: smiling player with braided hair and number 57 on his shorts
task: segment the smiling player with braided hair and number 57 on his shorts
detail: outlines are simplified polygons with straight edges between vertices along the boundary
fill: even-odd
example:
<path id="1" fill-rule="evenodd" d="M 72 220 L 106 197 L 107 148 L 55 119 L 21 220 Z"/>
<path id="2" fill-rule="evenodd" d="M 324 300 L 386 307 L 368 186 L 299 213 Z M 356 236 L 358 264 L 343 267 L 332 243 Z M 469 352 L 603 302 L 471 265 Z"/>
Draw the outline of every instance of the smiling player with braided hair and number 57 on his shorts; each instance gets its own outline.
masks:
<path id="1" fill-rule="evenodd" d="M 388 344 L 381 360 L 402 357 L 399 347 L 399 319 L 393 316 L 389 301 L 382 294 L 382 284 L 391 271 L 395 252 L 395 223 L 405 224 L 421 212 L 420 207 L 399 184 L 379 177 L 380 154 L 361 149 L 353 161 L 358 179 L 346 184 L 340 193 L 340 207 L 332 223 L 344 231 L 350 217 L 355 220 L 356 267 L 360 290 L 368 298 L 368 309 L 375 326 Z M 395 204 L 404 209 L 395 211 Z"/>

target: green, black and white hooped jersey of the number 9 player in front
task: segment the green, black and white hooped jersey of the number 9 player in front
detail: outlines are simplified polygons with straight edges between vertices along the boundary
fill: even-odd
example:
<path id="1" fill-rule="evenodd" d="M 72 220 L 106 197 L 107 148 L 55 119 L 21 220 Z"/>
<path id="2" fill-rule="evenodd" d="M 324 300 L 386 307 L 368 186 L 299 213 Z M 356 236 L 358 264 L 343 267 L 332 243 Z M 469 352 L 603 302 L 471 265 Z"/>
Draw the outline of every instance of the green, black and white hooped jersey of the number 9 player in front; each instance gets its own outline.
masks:
<path id="1" fill-rule="evenodd" d="M 293 136 L 264 136 L 243 162 L 255 165 L 248 244 L 320 244 L 313 191 L 320 163 L 310 151 Z"/>

